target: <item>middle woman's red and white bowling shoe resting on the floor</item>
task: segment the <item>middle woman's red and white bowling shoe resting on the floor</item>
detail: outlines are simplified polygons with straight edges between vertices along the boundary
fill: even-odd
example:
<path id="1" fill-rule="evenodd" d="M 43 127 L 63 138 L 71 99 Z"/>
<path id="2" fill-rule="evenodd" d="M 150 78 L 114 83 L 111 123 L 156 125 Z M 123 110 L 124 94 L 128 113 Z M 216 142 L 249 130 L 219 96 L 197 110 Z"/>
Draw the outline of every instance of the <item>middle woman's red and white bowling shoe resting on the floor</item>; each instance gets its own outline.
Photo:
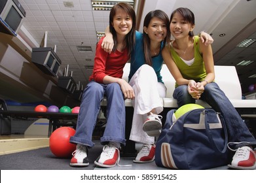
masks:
<path id="1" fill-rule="evenodd" d="M 155 160 L 156 146 L 151 144 L 144 144 L 139 150 L 139 153 L 134 159 L 134 163 L 150 163 Z"/>

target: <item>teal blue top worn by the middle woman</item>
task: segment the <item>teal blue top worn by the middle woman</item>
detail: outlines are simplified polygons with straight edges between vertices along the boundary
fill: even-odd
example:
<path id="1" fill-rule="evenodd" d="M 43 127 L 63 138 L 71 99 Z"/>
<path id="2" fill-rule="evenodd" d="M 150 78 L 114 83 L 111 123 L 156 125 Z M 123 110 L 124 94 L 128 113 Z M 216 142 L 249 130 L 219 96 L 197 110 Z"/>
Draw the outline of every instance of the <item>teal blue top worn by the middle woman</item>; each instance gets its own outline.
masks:
<path id="1" fill-rule="evenodd" d="M 161 54 L 163 46 L 164 45 L 162 42 L 160 47 L 160 53 L 157 56 L 152 57 L 153 69 L 156 72 L 158 82 L 162 82 L 162 76 L 160 75 L 160 71 L 162 69 L 162 63 L 163 63 L 163 58 Z M 131 55 L 130 63 L 131 63 L 131 66 L 130 66 L 129 81 L 134 75 L 134 73 L 136 73 L 137 69 L 139 69 L 141 65 L 145 64 L 145 57 L 144 57 L 144 50 L 143 50 L 143 33 L 140 33 L 139 31 L 136 31 L 136 44 Z"/>

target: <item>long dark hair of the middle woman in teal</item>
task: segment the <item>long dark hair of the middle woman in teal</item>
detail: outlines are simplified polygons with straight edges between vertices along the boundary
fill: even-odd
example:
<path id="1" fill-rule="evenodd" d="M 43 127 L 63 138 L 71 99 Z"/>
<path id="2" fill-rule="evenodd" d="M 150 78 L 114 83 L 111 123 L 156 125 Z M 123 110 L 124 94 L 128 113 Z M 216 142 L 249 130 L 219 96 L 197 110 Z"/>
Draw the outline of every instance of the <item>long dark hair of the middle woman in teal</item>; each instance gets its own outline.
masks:
<path id="1" fill-rule="evenodd" d="M 162 11 L 162 10 L 153 10 L 149 12 L 144 19 L 143 27 L 149 27 L 149 23 L 152 18 L 159 18 L 166 24 L 167 28 L 167 35 L 164 38 L 164 45 L 166 44 L 166 41 L 170 41 L 170 22 L 168 15 Z M 144 56 L 145 56 L 145 63 L 152 66 L 152 59 L 151 59 L 151 51 L 150 51 L 150 38 L 145 31 L 143 31 L 143 46 L 144 46 Z M 161 51 L 161 50 L 160 50 Z"/>

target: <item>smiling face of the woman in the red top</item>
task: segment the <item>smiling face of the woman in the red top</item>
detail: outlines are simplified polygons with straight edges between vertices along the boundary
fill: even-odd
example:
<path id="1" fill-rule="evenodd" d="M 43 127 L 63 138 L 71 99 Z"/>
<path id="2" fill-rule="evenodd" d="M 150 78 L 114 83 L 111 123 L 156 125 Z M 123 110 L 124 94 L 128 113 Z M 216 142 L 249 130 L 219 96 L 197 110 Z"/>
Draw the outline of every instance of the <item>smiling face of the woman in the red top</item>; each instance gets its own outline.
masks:
<path id="1" fill-rule="evenodd" d="M 113 17 L 112 25 L 117 36 L 126 36 L 132 29 L 132 18 L 122 8 L 119 8 Z"/>

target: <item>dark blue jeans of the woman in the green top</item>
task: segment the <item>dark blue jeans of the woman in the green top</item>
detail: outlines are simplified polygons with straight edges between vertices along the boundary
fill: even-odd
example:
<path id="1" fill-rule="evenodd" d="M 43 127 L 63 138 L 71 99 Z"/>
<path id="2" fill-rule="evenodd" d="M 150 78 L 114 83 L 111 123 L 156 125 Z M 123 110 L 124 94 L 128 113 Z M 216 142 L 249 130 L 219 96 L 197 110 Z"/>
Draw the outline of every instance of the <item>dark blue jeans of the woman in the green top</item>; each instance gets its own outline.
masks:
<path id="1" fill-rule="evenodd" d="M 195 99 L 187 92 L 187 85 L 181 85 L 174 90 L 174 99 L 177 99 L 178 107 L 188 103 L 195 103 Z M 241 96 L 242 97 L 242 96 Z M 204 93 L 200 99 L 206 101 L 216 112 L 221 112 L 227 126 L 229 142 L 249 142 L 251 145 L 256 144 L 256 140 L 249 132 L 246 124 L 233 107 L 225 93 L 215 82 L 204 86 Z M 244 146 L 237 144 L 234 148 Z"/>

